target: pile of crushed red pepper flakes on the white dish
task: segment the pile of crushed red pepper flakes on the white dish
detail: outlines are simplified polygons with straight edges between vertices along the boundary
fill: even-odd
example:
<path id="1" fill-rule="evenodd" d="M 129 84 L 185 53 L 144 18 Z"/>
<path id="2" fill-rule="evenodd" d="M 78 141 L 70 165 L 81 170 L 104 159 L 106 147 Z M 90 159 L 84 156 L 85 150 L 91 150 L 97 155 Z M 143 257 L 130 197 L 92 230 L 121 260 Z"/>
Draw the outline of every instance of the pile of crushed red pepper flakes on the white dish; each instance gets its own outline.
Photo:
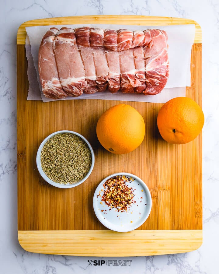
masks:
<path id="1" fill-rule="evenodd" d="M 132 203 L 136 203 L 133 199 L 133 188 L 128 187 L 126 184 L 132 180 L 132 178 L 124 175 L 117 175 L 103 183 L 104 192 L 101 201 L 104 201 L 107 206 L 111 207 L 109 210 L 115 208 L 118 212 L 124 212 L 127 211 Z"/>

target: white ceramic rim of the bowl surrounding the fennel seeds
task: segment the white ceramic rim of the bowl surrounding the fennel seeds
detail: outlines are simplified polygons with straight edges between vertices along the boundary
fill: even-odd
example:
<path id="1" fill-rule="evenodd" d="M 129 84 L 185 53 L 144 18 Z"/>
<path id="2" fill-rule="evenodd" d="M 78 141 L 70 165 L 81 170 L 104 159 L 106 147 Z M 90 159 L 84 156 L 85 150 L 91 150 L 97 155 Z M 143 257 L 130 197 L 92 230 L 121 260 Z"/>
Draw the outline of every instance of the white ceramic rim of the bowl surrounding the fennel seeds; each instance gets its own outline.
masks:
<path id="1" fill-rule="evenodd" d="M 42 167 L 41 167 L 40 154 L 41 154 L 41 150 L 42 150 L 44 144 L 45 144 L 51 137 L 53 137 L 53 136 L 56 135 L 56 134 L 60 134 L 60 133 L 72 133 L 72 134 L 77 135 L 78 137 L 80 137 L 81 139 L 83 139 L 83 140 L 87 143 L 87 145 L 88 145 L 88 147 L 89 147 L 89 149 L 90 149 L 90 151 L 91 151 L 92 163 L 91 163 L 90 170 L 89 170 L 89 172 L 87 173 L 87 175 L 86 175 L 82 180 L 78 181 L 78 182 L 75 183 L 75 184 L 69 184 L 69 183 L 68 183 L 68 184 L 59 184 L 59 183 L 56 183 L 56 182 L 52 181 L 49 177 L 47 177 L 47 175 L 44 173 L 44 171 L 43 171 L 43 169 L 42 169 Z M 85 180 L 87 180 L 87 178 L 90 176 L 90 174 L 91 174 L 91 172 L 92 172 L 92 170 L 93 170 L 93 167 L 94 167 L 94 161 L 95 161 L 94 151 L 93 151 L 93 149 L 92 149 L 92 146 L 91 146 L 90 143 L 88 142 L 88 140 L 87 140 L 84 136 L 82 136 L 81 134 L 79 134 L 79 133 L 77 133 L 77 132 L 74 132 L 74 131 L 70 131 L 70 130 L 60 130 L 60 131 L 54 132 L 54 133 L 50 134 L 49 136 L 47 136 L 47 138 L 45 138 L 45 139 L 43 140 L 43 142 L 40 144 L 39 149 L 38 149 L 37 154 L 36 154 L 36 166 L 37 166 L 37 169 L 38 169 L 39 172 L 40 172 L 40 175 L 43 177 L 43 179 L 44 179 L 45 181 L 47 181 L 47 183 L 49 183 L 49 184 L 51 184 L 51 185 L 53 185 L 53 186 L 55 186 L 55 187 L 57 187 L 57 188 L 73 188 L 73 187 L 76 187 L 76 186 L 79 185 L 79 184 L 82 184 L 82 183 L 83 183 Z"/>

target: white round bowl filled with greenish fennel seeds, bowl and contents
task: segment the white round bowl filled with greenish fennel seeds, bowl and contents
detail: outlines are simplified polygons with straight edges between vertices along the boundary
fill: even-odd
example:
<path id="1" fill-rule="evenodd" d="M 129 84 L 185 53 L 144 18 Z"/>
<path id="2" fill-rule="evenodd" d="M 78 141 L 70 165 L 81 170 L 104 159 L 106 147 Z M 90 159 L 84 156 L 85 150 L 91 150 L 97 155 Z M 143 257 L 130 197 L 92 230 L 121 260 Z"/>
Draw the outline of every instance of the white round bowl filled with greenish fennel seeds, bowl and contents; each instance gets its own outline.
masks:
<path id="1" fill-rule="evenodd" d="M 58 188 L 82 184 L 94 167 L 93 149 L 81 134 L 61 130 L 47 136 L 36 154 L 40 175 Z"/>

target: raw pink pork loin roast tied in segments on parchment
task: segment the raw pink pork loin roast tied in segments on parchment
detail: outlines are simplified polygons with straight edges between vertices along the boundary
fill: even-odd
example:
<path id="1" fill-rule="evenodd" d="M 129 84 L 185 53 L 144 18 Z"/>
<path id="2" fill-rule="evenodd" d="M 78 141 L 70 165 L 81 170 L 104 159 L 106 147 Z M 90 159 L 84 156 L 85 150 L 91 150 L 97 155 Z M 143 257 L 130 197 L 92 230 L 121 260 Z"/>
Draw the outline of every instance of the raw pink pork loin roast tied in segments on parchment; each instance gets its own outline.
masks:
<path id="1" fill-rule="evenodd" d="M 39 48 L 46 97 L 58 99 L 109 90 L 155 95 L 169 77 L 164 30 L 50 28 Z"/>

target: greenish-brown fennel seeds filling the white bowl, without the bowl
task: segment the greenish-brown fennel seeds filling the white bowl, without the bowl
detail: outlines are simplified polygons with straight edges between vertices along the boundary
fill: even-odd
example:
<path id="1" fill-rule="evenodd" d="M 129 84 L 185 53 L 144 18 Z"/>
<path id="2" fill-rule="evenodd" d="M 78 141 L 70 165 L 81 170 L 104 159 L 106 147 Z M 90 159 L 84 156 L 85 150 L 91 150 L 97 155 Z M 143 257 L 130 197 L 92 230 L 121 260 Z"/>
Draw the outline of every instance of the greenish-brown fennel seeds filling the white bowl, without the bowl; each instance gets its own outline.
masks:
<path id="1" fill-rule="evenodd" d="M 75 184 L 89 172 L 92 156 L 87 143 L 72 133 L 51 137 L 41 150 L 44 173 L 59 184 Z"/>

